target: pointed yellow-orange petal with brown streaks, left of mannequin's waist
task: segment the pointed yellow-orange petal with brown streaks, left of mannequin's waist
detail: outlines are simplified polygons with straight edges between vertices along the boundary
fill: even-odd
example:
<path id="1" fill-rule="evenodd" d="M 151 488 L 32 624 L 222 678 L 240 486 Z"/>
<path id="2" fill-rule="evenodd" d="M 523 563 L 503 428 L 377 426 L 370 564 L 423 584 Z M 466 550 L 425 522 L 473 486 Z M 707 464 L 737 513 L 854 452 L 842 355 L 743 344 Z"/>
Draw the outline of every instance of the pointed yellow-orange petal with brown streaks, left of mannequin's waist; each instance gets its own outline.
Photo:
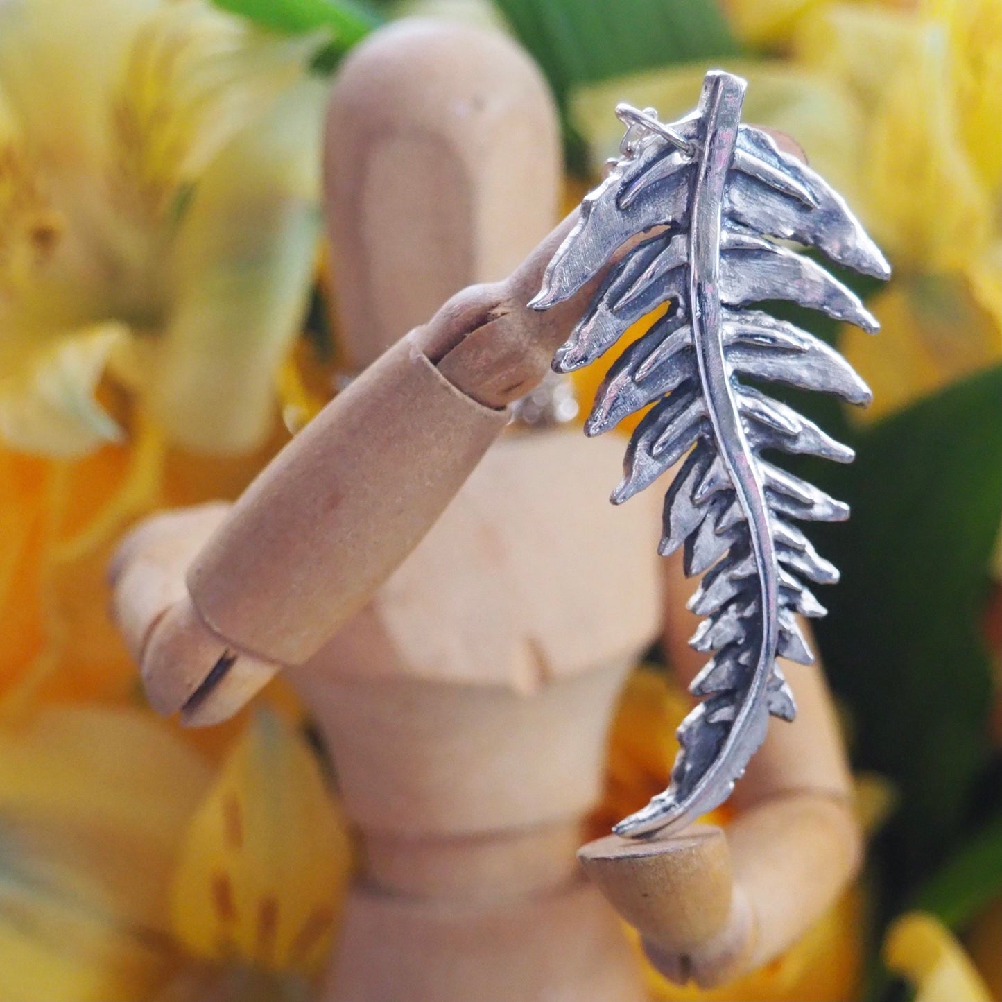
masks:
<path id="1" fill-rule="evenodd" d="M 171 923 L 194 954 L 315 974 L 348 880 L 347 829 L 317 757 L 261 710 L 191 819 Z"/>

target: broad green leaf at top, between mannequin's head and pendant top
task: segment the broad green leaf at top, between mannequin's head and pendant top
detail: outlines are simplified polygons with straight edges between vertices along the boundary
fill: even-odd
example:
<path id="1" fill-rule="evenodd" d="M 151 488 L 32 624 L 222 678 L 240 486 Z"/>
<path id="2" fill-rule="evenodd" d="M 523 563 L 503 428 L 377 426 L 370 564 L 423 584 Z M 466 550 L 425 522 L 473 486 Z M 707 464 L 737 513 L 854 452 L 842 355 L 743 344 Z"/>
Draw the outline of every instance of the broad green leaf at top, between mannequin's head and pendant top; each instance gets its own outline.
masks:
<path id="1" fill-rule="evenodd" d="M 578 84 L 732 56 L 738 48 L 715 0 L 496 0 L 564 106 Z"/>

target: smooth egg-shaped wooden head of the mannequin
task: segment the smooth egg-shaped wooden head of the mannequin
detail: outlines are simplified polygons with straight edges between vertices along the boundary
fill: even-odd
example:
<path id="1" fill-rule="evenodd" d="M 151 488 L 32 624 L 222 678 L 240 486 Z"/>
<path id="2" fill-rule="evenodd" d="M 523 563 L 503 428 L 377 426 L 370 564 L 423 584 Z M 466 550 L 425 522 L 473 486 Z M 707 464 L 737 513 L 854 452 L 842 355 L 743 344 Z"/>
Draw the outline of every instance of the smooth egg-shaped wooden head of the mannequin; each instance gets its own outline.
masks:
<path id="1" fill-rule="evenodd" d="M 556 221 L 560 157 L 546 82 L 506 36 L 405 20 L 353 51 L 328 110 L 325 187 L 355 370 L 521 262 Z"/>

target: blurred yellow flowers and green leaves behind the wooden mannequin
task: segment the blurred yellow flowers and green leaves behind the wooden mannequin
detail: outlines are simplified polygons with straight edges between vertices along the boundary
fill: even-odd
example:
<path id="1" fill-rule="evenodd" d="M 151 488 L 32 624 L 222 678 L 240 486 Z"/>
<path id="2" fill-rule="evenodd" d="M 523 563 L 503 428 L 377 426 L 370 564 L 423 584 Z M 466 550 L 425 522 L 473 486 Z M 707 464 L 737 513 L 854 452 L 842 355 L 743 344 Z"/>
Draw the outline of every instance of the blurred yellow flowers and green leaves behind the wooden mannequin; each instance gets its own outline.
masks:
<path id="1" fill-rule="evenodd" d="M 1002 0 L 0 2 L 0 999 L 307 998 L 336 934 L 351 840 L 295 697 L 155 717 L 104 567 L 144 513 L 238 494 L 332 395 L 325 95 L 414 13 L 532 53 L 568 205 L 616 101 L 670 120 L 725 65 L 895 267 L 848 280 L 878 338 L 810 322 L 875 407 L 802 404 L 859 457 L 810 479 L 854 507 L 819 533 L 843 582 L 818 639 L 866 871 L 767 969 L 650 972 L 652 997 L 1002 999 Z M 662 789 L 684 709 L 638 667 L 596 824 Z"/>

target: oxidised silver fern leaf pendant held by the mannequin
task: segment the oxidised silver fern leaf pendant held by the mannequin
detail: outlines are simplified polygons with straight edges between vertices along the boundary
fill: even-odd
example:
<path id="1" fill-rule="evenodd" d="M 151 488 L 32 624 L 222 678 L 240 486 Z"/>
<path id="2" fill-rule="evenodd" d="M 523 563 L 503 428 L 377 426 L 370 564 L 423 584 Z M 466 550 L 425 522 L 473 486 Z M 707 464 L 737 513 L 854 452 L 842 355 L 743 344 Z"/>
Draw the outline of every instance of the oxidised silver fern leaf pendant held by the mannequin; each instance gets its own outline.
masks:
<path id="1" fill-rule="evenodd" d="M 585 425 L 613 428 L 648 404 L 626 450 L 616 504 L 683 460 L 664 503 L 659 552 L 684 547 L 686 574 L 705 572 L 688 607 L 706 618 L 690 643 L 712 656 L 690 686 L 703 697 L 678 728 L 668 789 L 620 822 L 640 837 L 680 827 L 722 804 L 766 737 L 770 714 L 792 720 L 793 692 L 777 656 L 810 664 L 795 615 L 825 609 L 805 582 L 838 580 L 795 521 L 839 521 L 847 505 L 763 458 L 765 450 L 850 462 L 853 451 L 793 408 L 741 382 L 782 382 L 854 404 L 870 391 L 814 335 L 747 307 L 790 300 L 870 332 L 859 298 L 793 240 L 858 272 L 890 268 L 842 197 L 760 129 L 739 124 L 745 82 L 703 81 L 697 109 L 672 125 L 652 109 L 616 109 L 627 124 L 605 180 L 550 262 L 530 306 L 560 303 L 605 268 L 585 316 L 553 368 L 595 361 L 633 323 L 667 313 L 612 365 Z"/>

